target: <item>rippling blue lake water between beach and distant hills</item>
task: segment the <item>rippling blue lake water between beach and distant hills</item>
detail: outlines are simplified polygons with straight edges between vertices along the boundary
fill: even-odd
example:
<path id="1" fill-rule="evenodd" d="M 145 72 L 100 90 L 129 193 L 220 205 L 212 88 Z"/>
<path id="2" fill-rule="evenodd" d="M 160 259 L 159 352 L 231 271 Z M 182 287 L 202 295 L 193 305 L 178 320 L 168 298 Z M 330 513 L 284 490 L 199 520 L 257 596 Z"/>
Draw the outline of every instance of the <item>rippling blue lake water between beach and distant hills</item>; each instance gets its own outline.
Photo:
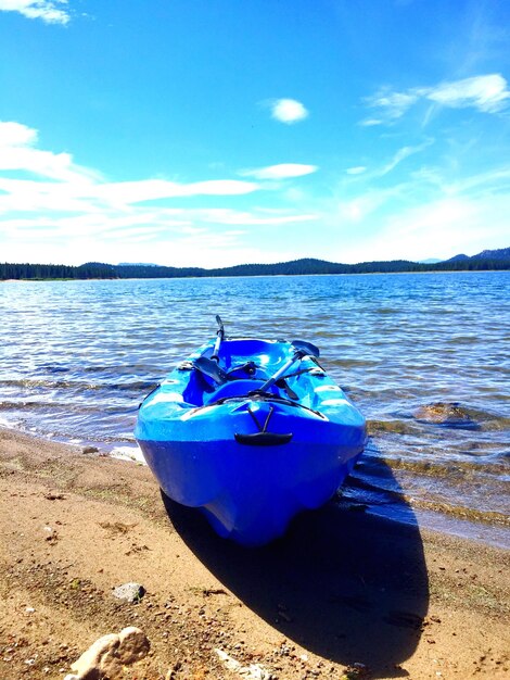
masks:
<path id="1" fill-rule="evenodd" d="M 139 402 L 217 313 L 320 347 L 369 420 L 344 499 L 510 544 L 507 272 L 0 284 L 0 423 L 136 455 Z"/>

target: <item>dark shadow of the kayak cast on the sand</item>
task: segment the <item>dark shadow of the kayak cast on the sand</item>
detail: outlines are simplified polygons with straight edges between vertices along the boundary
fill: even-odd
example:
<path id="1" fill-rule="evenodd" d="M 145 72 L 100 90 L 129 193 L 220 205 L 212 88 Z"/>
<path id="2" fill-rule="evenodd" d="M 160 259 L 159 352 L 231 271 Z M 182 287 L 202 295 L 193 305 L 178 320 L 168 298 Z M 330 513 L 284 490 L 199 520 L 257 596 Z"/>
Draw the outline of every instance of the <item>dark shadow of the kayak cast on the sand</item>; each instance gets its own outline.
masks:
<path id="1" fill-rule="evenodd" d="M 217 537 L 196 509 L 162 495 L 196 557 L 285 638 L 332 662 L 362 663 L 372 678 L 408 675 L 399 664 L 416 650 L 429 604 L 417 524 L 330 502 L 296 517 L 279 541 L 245 549 Z"/>

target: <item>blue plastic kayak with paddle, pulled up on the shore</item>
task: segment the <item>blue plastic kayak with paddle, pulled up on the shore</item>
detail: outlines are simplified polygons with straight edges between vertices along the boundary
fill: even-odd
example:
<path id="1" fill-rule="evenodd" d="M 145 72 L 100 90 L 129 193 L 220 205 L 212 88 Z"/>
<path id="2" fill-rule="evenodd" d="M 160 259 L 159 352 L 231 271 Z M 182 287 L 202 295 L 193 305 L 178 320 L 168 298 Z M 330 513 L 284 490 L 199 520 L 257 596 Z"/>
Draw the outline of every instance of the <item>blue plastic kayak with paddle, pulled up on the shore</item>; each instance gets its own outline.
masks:
<path id="1" fill-rule="evenodd" d="M 220 330 L 140 405 L 135 436 L 161 488 L 221 537 L 262 545 L 333 496 L 366 421 L 308 342 Z"/>

